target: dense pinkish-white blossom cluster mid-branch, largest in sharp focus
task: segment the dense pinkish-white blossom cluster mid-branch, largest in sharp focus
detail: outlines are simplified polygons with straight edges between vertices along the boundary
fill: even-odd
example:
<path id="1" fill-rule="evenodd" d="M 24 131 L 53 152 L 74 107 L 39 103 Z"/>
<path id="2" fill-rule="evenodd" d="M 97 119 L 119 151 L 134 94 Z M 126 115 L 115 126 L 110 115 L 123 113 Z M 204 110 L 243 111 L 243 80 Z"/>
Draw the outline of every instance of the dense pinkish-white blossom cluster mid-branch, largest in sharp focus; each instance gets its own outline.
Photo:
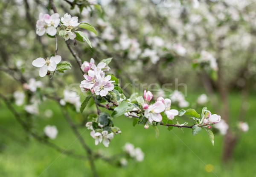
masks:
<path id="1" fill-rule="evenodd" d="M 105 76 L 104 71 L 108 71 L 109 67 L 104 62 L 95 65 L 94 59 L 89 62 L 84 62 L 81 69 L 87 74 L 84 74 L 84 80 L 81 81 L 80 88 L 82 91 L 90 90 L 92 93 L 100 96 L 107 96 L 108 92 L 114 89 L 111 81 L 111 75 Z"/>

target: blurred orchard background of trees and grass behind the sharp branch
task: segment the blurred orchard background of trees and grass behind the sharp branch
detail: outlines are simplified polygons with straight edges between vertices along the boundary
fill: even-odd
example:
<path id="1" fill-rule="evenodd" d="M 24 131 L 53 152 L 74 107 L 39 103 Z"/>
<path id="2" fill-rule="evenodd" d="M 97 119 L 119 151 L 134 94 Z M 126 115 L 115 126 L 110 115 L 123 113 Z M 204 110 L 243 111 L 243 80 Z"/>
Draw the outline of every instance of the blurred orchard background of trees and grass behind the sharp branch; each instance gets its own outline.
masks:
<path id="1" fill-rule="evenodd" d="M 113 57 L 109 64 L 125 96 L 151 90 L 154 96 L 171 98 L 172 109 L 191 107 L 201 113 L 204 106 L 221 115 L 224 122 L 212 127 L 215 145 L 206 132 L 193 136 L 191 129 L 154 129 L 133 126 L 125 116 L 113 120 L 122 134 L 105 148 L 95 146 L 85 130 L 91 106 L 83 114 L 70 109 L 72 119 L 84 132 L 92 149 L 106 156 L 122 153 L 130 142 L 140 147 L 142 162 L 128 160 L 125 166 L 96 161 L 99 176 L 255 176 L 256 130 L 256 1 L 255 0 L 54 0 L 58 13 L 79 17 L 93 25 L 98 36 L 84 31 L 93 48 L 78 41 L 71 45 L 82 61 L 96 63 Z M 94 6 L 93 3 L 98 3 Z M 35 24 L 40 12 L 53 14 L 48 0 L 2 0 L 0 2 L 0 176 L 56 177 L 91 176 L 86 160 L 61 155 L 26 133 L 9 110 L 4 98 L 29 131 L 44 136 L 44 127 L 55 125 L 58 135 L 47 140 L 83 153 L 58 104 L 42 93 L 64 90 L 85 96 L 79 84 L 83 75 L 64 40 L 58 39 L 58 55 L 72 64 L 72 70 L 56 73 L 53 81 L 38 76 L 32 61 L 55 52 L 55 39 L 39 37 Z M 55 90 L 50 89 L 50 85 Z M 29 93 L 26 90 L 30 90 Z M 24 94 L 25 93 L 25 94 Z M 71 93 L 67 93 L 69 95 Z M 66 100 L 67 101 L 67 100 Z M 90 103 L 89 103 L 90 104 Z M 92 105 L 92 104 L 91 104 Z M 179 118 L 179 123 L 192 121 Z M 249 128 L 250 127 L 250 128 Z M 39 142 L 38 142 L 39 141 Z M 71 146 L 70 146 L 71 144 Z M 55 160 L 56 159 L 56 160 Z M 53 163 L 54 162 L 54 163 Z M 51 166 L 49 166 L 52 164 Z M 49 168 L 48 168 L 49 167 Z M 43 172 L 43 173 L 42 173 Z"/>

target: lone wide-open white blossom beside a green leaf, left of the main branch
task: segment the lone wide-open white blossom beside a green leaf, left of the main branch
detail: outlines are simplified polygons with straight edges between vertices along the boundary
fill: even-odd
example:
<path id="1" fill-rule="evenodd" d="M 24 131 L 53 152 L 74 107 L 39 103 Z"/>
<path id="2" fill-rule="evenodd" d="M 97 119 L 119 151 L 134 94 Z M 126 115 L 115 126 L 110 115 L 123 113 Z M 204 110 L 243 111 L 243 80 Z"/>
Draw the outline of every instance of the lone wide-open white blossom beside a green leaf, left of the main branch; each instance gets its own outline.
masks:
<path id="1" fill-rule="evenodd" d="M 61 56 L 55 55 L 52 57 L 47 57 L 47 59 L 37 58 L 33 60 L 32 65 L 35 67 L 40 67 L 39 76 L 44 77 L 47 74 L 47 71 L 54 71 L 57 67 L 57 64 L 61 62 Z"/>

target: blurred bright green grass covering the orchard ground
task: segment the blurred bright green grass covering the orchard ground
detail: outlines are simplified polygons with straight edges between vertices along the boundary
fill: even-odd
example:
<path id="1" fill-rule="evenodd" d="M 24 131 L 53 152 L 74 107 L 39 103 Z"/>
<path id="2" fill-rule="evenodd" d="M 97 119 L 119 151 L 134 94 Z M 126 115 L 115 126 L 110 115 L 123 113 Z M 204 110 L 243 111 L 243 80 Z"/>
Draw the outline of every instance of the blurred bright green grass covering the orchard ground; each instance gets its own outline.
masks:
<path id="1" fill-rule="evenodd" d="M 239 110 L 240 98 L 232 94 L 230 97 L 231 116 L 236 118 Z M 191 97 L 193 98 L 193 96 Z M 172 129 L 168 131 L 160 127 L 160 136 L 155 138 L 154 129 L 145 130 L 143 126 L 132 126 L 132 120 L 120 117 L 114 120 L 116 126 L 122 130 L 122 135 L 117 135 L 105 148 L 102 144 L 94 146 L 94 140 L 89 131 L 83 133 L 83 137 L 92 149 L 101 149 L 105 155 L 113 155 L 122 152 L 122 146 L 126 142 L 140 147 L 145 153 L 143 162 L 130 161 L 125 168 L 118 168 L 96 161 L 96 168 L 100 176 L 111 177 L 161 177 L 161 176 L 192 176 L 192 177 L 253 177 L 256 176 L 255 165 L 256 143 L 254 135 L 256 126 L 254 107 L 255 96 L 251 96 L 250 109 L 247 112 L 247 122 L 250 124 L 249 132 L 241 134 L 236 146 L 233 161 L 229 164 L 221 163 L 221 135 L 215 135 L 215 146 L 212 146 L 205 131 L 193 136 L 191 129 Z M 1 177 L 90 177 L 91 171 L 87 161 L 77 160 L 67 155 L 60 155 L 31 137 L 26 137 L 21 126 L 15 121 L 11 112 L 3 103 L 0 104 L 0 176 Z M 46 105 L 42 105 L 44 108 Z M 60 110 L 53 105 L 54 116 L 50 119 L 38 121 L 38 128 L 43 130 L 47 124 L 56 125 L 59 134 L 54 143 L 67 148 L 76 137 L 73 135 Z M 199 108 L 200 110 L 201 108 Z M 3 128 L 5 127 L 5 128 Z M 15 137 L 6 133 L 5 129 L 14 133 Z M 81 129 L 81 132 L 83 129 Z M 78 141 L 75 141 L 69 149 L 83 153 Z M 207 166 L 213 170 L 210 171 Z M 48 168 L 49 167 L 49 168 Z M 44 171 L 45 170 L 45 171 Z M 43 174 L 42 174 L 43 172 Z"/>

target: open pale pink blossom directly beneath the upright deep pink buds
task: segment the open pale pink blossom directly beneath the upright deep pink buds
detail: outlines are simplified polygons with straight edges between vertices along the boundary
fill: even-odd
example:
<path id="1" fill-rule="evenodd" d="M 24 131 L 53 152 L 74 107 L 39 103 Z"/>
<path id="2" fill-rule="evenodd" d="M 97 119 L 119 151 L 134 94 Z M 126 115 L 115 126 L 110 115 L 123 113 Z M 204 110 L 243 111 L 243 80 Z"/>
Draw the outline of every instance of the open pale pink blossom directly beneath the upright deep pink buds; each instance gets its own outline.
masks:
<path id="1" fill-rule="evenodd" d="M 148 109 L 145 110 L 145 117 L 148 118 L 148 121 L 152 123 L 153 121 L 160 122 L 162 121 L 162 115 L 160 112 L 165 110 L 165 105 L 162 101 L 157 101 L 154 104 L 151 104 Z"/>

